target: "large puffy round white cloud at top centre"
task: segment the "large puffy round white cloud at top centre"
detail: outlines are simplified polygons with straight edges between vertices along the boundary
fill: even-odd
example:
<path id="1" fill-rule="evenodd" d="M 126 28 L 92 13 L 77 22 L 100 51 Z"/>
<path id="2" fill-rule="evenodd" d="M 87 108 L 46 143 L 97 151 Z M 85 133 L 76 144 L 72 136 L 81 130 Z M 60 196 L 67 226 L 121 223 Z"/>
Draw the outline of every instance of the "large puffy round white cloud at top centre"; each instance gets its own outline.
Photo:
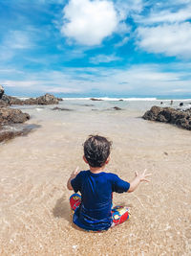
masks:
<path id="1" fill-rule="evenodd" d="M 117 30 L 117 12 L 106 0 L 70 0 L 64 8 L 61 33 L 77 43 L 93 46 Z"/>

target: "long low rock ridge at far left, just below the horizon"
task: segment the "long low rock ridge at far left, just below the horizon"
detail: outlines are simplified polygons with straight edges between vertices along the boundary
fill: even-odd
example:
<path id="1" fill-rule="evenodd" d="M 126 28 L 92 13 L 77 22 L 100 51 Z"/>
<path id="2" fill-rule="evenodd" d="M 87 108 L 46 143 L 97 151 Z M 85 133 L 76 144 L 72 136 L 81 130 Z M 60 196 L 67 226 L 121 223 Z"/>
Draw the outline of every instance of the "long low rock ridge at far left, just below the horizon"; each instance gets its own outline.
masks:
<path id="1" fill-rule="evenodd" d="M 52 94 L 45 94 L 38 98 L 30 98 L 27 100 L 20 100 L 16 97 L 3 95 L 2 101 L 7 105 L 58 105 L 62 99 L 54 97 Z M 1 103 L 0 103 L 1 104 Z"/>

